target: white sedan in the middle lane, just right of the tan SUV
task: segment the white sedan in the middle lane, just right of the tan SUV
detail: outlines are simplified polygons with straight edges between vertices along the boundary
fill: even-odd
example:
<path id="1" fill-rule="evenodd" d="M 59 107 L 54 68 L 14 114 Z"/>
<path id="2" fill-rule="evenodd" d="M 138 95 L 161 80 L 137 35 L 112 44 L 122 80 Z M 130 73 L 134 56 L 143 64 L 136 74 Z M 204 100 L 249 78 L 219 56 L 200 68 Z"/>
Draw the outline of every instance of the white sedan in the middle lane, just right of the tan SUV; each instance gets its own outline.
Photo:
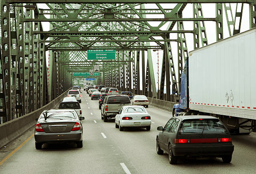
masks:
<path id="1" fill-rule="evenodd" d="M 115 116 L 115 128 L 123 131 L 124 127 L 151 127 L 151 117 L 143 106 L 123 106 Z"/>

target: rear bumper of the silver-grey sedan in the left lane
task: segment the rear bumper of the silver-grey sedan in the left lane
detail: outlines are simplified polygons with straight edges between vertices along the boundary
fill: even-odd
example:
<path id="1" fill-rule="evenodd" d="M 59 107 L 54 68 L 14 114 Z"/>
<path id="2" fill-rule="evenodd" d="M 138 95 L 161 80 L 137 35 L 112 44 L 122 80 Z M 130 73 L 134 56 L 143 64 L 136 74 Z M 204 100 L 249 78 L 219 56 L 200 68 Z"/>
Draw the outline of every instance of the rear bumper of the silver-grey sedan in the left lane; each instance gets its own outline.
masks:
<path id="1" fill-rule="evenodd" d="M 80 141 L 82 140 L 82 131 L 71 131 L 65 133 L 45 133 L 35 131 L 35 141 L 37 143 L 56 143 L 64 141 Z"/>

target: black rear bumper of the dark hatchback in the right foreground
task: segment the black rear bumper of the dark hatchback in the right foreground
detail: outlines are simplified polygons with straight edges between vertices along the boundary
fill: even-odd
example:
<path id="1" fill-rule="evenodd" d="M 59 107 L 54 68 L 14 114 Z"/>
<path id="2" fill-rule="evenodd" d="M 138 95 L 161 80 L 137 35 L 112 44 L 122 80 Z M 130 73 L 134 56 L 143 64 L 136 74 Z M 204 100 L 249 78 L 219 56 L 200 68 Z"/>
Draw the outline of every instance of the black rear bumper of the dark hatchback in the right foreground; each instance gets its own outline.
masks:
<path id="1" fill-rule="evenodd" d="M 233 145 L 221 146 L 172 146 L 174 156 L 214 156 L 232 155 Z"/>

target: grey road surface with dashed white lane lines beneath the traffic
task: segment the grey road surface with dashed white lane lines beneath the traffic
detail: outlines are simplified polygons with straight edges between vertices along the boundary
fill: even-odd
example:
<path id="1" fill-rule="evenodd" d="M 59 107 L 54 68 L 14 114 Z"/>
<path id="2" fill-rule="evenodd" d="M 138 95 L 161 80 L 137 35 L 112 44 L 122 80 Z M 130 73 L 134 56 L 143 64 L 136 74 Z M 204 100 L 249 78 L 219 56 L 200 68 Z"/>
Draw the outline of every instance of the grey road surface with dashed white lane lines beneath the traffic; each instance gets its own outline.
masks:
<path id="1" fill-rule="evenodd" d="M 101 120 L 98 100 L 92 101 L 85 91 L 82 91 L 81 107 L 85 117 L 83 148 L 76 148 L 76 144 L 46 144 L 42 150 L 36 150 L 33 129 L 30 129 L 23 138 L 0 149 L 8 152 L 0 153 L 0 174 L 256 173 L 255 133 L 232 136 L 235 150 L 230 164 L 224 164 L 220 158 L 182 158 L 178 164 L 171 165 L 166 153 L 156 154 L 156 128 L 164 126 L 172 113 L 149 106 L 151 131 L 144 128 L 119 131 L 114 119 L 107 123 Z"/>

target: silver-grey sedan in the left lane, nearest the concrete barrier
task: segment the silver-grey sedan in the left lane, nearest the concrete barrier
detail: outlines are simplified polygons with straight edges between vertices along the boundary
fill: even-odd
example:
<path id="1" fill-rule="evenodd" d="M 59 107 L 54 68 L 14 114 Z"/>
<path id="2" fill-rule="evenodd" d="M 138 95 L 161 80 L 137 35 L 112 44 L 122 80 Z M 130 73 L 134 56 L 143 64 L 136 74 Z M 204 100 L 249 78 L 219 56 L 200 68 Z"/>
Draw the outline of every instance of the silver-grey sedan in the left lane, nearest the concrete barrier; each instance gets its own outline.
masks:
<path id="1" fill-rule="evenodd" d="M 77 147 L 83 146 L 84 117 L 77 115 L 74 109 L 45 110 L 38 119 L 35 127 L 36 149 L 42 149 L 44 143 L 76 142 Z"/>

